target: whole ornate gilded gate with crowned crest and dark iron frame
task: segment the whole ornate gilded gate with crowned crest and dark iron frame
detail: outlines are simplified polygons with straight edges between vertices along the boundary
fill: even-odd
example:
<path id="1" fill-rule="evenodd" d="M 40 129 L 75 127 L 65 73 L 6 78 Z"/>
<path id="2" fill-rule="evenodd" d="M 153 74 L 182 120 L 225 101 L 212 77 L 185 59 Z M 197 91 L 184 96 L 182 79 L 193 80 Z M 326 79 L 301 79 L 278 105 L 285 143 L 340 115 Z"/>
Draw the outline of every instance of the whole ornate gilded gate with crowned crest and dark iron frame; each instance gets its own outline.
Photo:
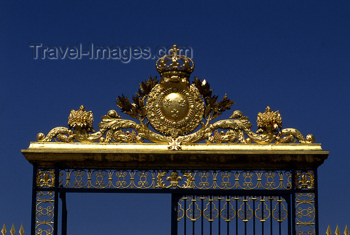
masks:
<path id="1" fill-rule="evenodd" d="M 58 234 L 59 198 L 66 234 L 73 192 L 169 193 L 171 234 L 318 234 L 317 167 L 328 151 L 313 135 L 282 129 L 268 106 L 256 132 L 238 110 L 211 123 L 234 102 L 190 83 L 194 63 L 176 45 L 156 69 L 160 80 L 140 82 L 133 103 L 117 98 L 136 121 L 110 110 L 94 131 L 81 105 L 67 127 L 22 150 L 33 165 L 31 234 Z"/>

